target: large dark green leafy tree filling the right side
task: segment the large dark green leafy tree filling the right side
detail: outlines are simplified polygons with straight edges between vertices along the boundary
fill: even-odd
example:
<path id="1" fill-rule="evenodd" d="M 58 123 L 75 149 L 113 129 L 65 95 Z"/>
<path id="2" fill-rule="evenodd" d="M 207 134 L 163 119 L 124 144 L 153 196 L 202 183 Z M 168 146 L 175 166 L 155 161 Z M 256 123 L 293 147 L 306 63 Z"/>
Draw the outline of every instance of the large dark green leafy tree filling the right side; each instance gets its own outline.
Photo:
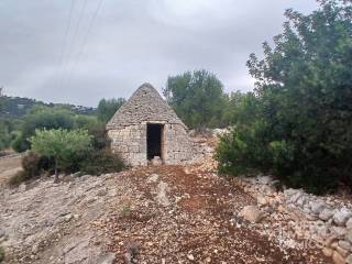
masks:
<path id="1" fill-rule="evenodd" d="M 351 186 L 352 4 L 319 3 L 308 15 L 287 10 L 274 47 L 264 43 L 264 59 L 250 56 L 256 90 L 238 103 L 221 140 L 222 172 L 270 169 L 312 193 Z"/>

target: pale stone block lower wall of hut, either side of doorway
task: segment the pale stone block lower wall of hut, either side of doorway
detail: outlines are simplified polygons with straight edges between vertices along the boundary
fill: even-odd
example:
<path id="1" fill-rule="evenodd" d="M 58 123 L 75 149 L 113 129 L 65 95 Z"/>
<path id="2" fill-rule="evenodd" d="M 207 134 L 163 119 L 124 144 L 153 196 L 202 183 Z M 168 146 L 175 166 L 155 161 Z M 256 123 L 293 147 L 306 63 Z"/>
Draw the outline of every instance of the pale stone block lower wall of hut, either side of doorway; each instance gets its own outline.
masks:
<path id="1" fill-rule="evenodd" d="M 179 164 L 189 161 L 194 154 L 194 145 L 187 131 L 180 124 L 164 124 L 162 151 L 165 164 Z M 132 166 L 146 165 L 146 122 L 123 129 L 109 130 L 111 150 L 119 153 Z"/>

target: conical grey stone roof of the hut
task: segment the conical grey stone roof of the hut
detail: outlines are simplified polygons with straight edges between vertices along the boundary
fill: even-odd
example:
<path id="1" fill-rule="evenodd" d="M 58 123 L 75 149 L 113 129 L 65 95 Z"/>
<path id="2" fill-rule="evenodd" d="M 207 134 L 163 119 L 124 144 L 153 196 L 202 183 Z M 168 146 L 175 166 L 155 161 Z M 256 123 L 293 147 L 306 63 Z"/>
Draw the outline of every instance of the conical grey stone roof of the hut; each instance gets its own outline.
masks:
<path id="1" fill-rule="evenodd" d="M 143 84 L 131 98 L 114 113 L 107 129 L 121 129 L 143 121 L 163 121 L 186 125 L 175 111 L 164 101 L 151 84 Z"/>

